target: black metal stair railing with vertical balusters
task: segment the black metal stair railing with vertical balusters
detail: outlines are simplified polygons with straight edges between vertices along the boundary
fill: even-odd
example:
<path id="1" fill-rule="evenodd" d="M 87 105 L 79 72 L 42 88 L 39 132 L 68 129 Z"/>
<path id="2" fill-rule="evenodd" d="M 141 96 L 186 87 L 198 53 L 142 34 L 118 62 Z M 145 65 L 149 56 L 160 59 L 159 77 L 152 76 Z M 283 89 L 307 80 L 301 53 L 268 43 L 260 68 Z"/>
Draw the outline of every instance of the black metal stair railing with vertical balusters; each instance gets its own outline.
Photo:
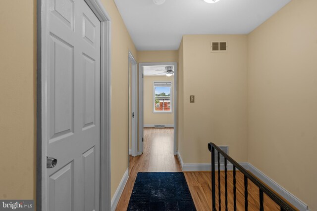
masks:
<path id="1" fill-rule="evenodd" d="M 237 210 L 237 195 L 236 195 L 236 169 L 244 174 L 244 207 L 245 211 L 248 211 L 248 179 L 252 181 L 256 186 L 259 187 L 259 200 L 260 200 L 260 211 L 264 211 L 264 193 L 271 198 L 278 206 L 281 211 L 296 211 L 281 197 L 275 194 L 273 191 L 268 189 L 262 181 L 250 174 L 246 169 L 234 161 L 229 155 L 223 152 L 214 143 L 208 144 L 208 149 L 211 151 L 211 192 L 212 192 L 212 211 L 216 211 L 216 200 L 215 200 L 215 150 L 217 150 L 217 161 L 218 161 L 218 204 L 221 211 L 221 191 L 220 191 L 220 154 L 224 157 L 224 188 L 225 188 L 225 211 L 228 211 L 228 184 L 227 184 L 227 162 L 229 161 L 233 166 L 233 209 Z"/>

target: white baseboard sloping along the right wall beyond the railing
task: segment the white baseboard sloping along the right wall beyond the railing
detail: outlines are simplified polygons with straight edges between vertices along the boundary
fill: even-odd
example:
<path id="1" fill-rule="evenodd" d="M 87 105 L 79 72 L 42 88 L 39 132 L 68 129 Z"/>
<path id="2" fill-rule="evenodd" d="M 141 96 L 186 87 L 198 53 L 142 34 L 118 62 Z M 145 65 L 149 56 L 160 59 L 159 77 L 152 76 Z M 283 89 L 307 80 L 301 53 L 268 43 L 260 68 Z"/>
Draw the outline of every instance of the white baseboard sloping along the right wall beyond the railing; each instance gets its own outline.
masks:
<path id="1" fill-rule="evenodd" d="M 285 188 L 277 184 L 271 178 L 266 176 L 262 171 L 252 166 L 252 164 L 248 164 L 249 169 L 254 175 L 256 175 L 259 179 L 261 179 L 266 185 L 272 188 L 276 193 L 281 195 L 284 199 L 286 199 L 289 203 L 294 205 L 300 211 L 309 211 L 308 206 L 299 200 L 296 196 L 288 192 Z"/>

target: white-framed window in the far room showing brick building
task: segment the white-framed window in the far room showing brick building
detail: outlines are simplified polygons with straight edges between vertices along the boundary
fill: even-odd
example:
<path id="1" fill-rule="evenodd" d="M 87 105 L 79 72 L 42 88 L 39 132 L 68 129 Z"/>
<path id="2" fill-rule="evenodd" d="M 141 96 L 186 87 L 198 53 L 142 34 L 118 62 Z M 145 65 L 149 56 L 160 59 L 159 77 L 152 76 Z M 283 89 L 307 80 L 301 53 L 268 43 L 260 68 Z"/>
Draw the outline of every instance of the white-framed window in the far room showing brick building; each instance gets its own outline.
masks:
<path id="1" fill-rule="evenodd" d="M 172 112 L 172 83 L 154 82 L 153 112 Z"/>

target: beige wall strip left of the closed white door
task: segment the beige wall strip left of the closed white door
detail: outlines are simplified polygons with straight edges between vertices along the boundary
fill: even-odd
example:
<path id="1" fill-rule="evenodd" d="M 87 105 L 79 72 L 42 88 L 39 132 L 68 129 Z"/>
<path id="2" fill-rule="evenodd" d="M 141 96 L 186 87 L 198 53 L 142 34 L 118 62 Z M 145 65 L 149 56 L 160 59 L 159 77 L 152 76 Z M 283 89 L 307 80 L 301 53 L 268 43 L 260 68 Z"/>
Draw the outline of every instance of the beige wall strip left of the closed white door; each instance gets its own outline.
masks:
<path id="1" fill-rule="evenodd" d="M 36 0 L 0 0 L 0 199 L 36 195 L 35 14 Z"/>

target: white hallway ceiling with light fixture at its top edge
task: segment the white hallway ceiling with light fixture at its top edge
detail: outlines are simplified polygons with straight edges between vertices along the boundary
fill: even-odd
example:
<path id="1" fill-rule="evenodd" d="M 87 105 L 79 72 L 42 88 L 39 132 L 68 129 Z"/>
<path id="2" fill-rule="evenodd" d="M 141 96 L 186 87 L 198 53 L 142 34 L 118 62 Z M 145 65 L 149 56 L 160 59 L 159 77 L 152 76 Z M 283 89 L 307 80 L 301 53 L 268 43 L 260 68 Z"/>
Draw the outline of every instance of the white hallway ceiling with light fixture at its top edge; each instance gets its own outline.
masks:
<path id="1" fill-rule="evenodd" d="M 291 0 L 114 0 L 137 50 L 177 50 L 183 35 L 249 34 Z"/>

